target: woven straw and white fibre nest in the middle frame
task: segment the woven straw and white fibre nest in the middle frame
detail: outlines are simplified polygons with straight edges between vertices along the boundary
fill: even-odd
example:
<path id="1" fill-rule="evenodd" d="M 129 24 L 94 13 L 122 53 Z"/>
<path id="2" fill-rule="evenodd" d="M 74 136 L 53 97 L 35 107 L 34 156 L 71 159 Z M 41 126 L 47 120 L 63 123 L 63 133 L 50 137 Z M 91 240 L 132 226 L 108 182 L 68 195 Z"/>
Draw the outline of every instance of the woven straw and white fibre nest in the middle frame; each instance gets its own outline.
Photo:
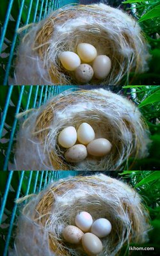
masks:
<path id="1" fill-rule="evenodd" d="M 25 115 L 26 113 L 22 113 Z M 95 131 L 95 139 L 112 144 L 104 157 L 88 156 L 81 163 L 68 163 L 58 135 L 68 126 L 83 122 Z M 147 156 L 148 131 L 134 104 L 108 90 L 70 90 L 33 109 L 17 136 L 17 170 L 116 170 L 129 157 Z"/>

